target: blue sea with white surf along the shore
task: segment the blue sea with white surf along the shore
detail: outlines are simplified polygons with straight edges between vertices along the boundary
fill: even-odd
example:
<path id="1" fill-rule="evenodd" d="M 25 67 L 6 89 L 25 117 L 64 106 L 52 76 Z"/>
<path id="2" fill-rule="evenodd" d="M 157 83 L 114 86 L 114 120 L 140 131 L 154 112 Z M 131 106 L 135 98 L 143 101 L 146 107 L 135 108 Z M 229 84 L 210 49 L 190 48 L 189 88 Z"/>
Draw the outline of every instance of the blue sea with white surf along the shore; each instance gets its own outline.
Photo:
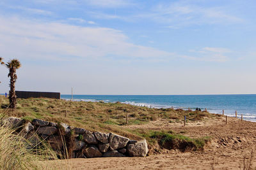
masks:
<path id="1" fill-rule="evenodd" d="M 61 95 L 61 99 L 70 100 L 71 95 Z M 91 101 L 105 103 L 125 103 L 152 108 L 181 108 L 196 110 L 200 108 L 209 113 L 222 114 L 256 122 L 256 94 L 232 95 L 73 95 L 74 101 Z"/>

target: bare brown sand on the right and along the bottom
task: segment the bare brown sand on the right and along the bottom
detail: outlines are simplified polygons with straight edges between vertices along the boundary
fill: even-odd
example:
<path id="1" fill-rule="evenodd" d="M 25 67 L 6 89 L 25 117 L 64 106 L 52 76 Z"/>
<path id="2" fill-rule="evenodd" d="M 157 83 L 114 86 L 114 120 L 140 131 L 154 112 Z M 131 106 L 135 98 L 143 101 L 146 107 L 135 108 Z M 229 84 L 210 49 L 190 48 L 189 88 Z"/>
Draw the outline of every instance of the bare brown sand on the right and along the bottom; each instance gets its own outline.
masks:
<path id="1" fill-rule="evenodd" d="M 256 169 L 256 123 L 220 117 L 203 122 L 170 124 L 157 120 L 147 125 L 131 125 L 129 128 L 172 129 L 186 132 L 191 137 L 211 136 L 212 141 L 204 152 L 179 152 L 165 150 L 165 153 L 150 155 L 146 158 L 95 158 L 58 160 L 68 169 L 243 169 L 243 157 L 246 162 L 254 150 L 253 169 Z"/>

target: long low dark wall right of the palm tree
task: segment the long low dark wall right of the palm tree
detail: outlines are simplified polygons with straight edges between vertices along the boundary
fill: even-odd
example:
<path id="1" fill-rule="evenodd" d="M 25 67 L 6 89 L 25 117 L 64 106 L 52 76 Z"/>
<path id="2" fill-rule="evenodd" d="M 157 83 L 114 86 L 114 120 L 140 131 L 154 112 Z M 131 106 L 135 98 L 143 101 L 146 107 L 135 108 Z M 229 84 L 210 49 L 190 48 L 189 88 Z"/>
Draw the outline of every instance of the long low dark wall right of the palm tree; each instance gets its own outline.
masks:
<path id="1" fill-rule="evenodd" d="M 15 94 L 18 98 L 28 99 L 29 97 L 38 98 L 38 97 L 47 97 L 60 99 L 59 92 L 26 92 L 26 91 L 15 91 Z"/>

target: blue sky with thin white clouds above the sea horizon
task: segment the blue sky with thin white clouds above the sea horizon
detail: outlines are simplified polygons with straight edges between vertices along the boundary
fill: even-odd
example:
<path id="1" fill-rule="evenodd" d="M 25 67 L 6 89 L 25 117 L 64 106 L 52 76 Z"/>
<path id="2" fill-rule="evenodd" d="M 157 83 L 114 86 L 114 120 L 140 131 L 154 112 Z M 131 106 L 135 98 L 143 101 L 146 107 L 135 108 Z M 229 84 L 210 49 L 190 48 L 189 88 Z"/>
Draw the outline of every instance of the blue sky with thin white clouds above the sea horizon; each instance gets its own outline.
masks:
<path id="1" fill-rule="evenodd" d="M 1 0 L 16 90 L 256 94 L 254 0 Z M 0 93 L 8 92 L 0 66 Z"/>

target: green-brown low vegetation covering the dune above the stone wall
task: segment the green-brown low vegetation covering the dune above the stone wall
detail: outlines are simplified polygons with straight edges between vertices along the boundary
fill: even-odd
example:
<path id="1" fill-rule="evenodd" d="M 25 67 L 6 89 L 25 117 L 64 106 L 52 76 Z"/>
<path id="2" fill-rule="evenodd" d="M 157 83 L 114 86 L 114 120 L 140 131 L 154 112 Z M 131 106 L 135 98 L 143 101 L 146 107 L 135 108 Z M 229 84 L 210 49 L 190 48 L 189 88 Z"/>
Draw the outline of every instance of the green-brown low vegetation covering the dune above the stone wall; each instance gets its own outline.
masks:
<path id="1" fill-rule="evenodd" d="M 16 110 L 8 109 L 8 101 L 4 96 L 0 96 L 1 110 L 6 110 L 6 114 L 14 117 L 33 120 L 40 118 L 50 122 L 64 122 L 74 127 L 82 127 L 88 131 L 115 132 L 131 139 L 147 139 L 150 147 L 159 144 L 164 146 L 163 141 L 179 139 L 193 143 L 193 148 L 204 147 L 204 140 L 191 139 L 173 132 L 152 131 L 138 128 L 129 129 L 130 125 L 147 125 L 150 122 L 164 119 L 172 123 L 184 121 L 184 116 L 188 122 L 198 122 L 205 118 L 217 117 L 205 111 L 175 110 L 173 108 L 147 108 L 133 106 L 123 103 L 93 103 L 84 101 L 67 101 L 47 98 L 18 99 Z M 194 147 L 195 146 L 195 147 Z"/>

